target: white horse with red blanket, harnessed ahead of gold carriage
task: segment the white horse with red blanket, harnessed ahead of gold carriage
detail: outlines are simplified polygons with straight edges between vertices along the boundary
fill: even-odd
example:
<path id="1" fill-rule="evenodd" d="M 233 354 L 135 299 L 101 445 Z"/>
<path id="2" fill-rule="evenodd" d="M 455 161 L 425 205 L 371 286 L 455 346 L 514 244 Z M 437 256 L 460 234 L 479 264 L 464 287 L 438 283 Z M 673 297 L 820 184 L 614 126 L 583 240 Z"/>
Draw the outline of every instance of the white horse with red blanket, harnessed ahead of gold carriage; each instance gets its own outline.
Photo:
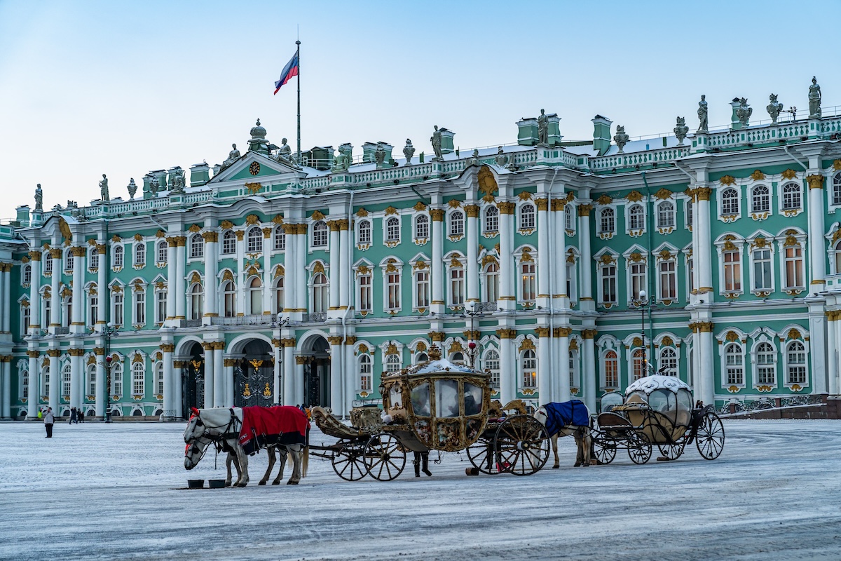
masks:
<path id="1" fill-rule="evenodd" d="M 234 451 L 239 464 L 240 474 L 234 486 L 245 487 L 249 481 L 248 456 L 267 448 L 270 451 L 269 467 L 261 481 L 264 484 L 274 465 L 274 448 L 284 447 L 294 464 L 287 484 L 295 485 L 307 472 L 308 430 L 309 421 L 297 407 L 193 408 L 193 415 L 184 429 L 184 442 L 188 445 L 184 453 L 184 468 L 194 468 L 211 442 L 221 442 Z"/>

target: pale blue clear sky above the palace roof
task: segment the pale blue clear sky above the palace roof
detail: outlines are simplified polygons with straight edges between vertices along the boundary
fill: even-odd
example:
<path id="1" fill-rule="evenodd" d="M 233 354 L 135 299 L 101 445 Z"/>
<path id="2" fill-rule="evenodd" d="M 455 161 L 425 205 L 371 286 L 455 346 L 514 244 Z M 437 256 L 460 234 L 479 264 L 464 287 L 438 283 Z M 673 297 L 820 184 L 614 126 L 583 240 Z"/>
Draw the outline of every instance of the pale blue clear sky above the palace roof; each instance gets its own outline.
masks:
<path id="1" fill-rule="evenodd" d="M 0 220 L 34 208 L 37 183 L 45 209 L 82 206 L 103 173 L 127 199 L 130 177 L 221 163 L 257 118 L 294 149 L 298 78 L 272 92 L 298 33 L 302 148 L 383 140 L 396 157 L 406 138 L 429 154 L 435 124 L 462 151 L 516 143 L 541 108 L 563 140 L 591 140 L 595 114 L 632 137 L 679 115 L 694 130 L 701 94 L 711 128 L 734 97 L 752 122 L 770 93 L 803 117 L 812 76 L 841 105 L 839 17 L 839 0 L 0 0 Z"/>

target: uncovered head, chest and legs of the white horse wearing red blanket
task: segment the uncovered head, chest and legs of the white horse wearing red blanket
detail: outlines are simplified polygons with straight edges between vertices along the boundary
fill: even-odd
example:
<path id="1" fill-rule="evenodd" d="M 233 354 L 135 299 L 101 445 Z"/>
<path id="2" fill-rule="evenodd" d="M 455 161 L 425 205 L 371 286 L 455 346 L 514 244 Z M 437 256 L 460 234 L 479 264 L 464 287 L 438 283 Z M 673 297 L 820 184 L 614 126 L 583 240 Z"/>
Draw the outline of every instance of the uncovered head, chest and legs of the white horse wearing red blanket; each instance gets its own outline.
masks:
<path id="1" fill-rule="evenodd" d="M 248 476 L 248 454 L 245 453 L 240 444 L 240 429 L 242 427 L 242 408 L 231 407 L 228 409 L 193 409 L 193 416 L 184 429 L 184 442 L 187 449 L 184 453 L 184 468 L 193 469 L 204 456 L 210 442 L 221 442 L 223 449 L 229 451 L 229 458 L 226 461 L 228 466 L 228 479 L 230 481 L 230 463 L 237 468 L 237 479 L 235 487 L 245 487 L 249 482 Z M 269 465 L 266 474 L 260 484 L 266 484 L 276 461 L 275 449 L 284 448 L 292 454 L 294 469 L 292 477 L 287 484 L 297 485 L 306 476 L 307 465 L 309 464 L 309 447 L 301 444 L 274 445 L 267 447 L 269 453 Z M 230 452 L 232 451 L 232 452 Z M 281 470 L 272 484 L 279 484 L 283 476 L 283 464 L 286 463 L 285 454 L 281 454 Z"/>

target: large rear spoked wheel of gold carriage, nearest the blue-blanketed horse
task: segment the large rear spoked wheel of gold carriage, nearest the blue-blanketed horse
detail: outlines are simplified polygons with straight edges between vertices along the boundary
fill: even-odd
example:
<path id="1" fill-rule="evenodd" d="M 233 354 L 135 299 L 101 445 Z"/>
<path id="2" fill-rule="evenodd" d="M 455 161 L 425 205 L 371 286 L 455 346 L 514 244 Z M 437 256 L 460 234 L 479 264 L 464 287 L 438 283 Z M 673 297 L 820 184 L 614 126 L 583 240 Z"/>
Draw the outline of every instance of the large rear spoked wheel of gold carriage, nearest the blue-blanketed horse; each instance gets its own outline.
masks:
<path id="1" fill-rule="evenodd" d="M 496 429 L 497 469 L 515 475 L 531 475 L 549 459 L 546 428 L 529 415 L 508 417 Z"/>

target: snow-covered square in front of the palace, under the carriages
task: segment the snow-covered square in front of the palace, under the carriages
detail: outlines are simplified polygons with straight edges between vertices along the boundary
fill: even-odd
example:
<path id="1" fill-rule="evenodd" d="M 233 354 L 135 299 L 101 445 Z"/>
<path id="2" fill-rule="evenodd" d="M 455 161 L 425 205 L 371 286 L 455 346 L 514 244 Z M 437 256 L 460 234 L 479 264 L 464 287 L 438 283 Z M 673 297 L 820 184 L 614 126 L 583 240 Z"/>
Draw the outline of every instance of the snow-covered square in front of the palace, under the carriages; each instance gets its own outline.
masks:
<path id="1" fill-rule="evenodd" d="M 183 468 L 183 423 L 0 424 L 0 558 L 791 559 L 841 557 L 838 421 L 725 421 L 709 462 L 467 477 L 442 455 L 391 482 L 339 479 L 310 458 L 298 486 L 184 490 L 224 477 L 209 454 Z M 330 442 L 314 430 L 311 442 Z M 436 459 L 432 453 L 431 459 Z M 290 473 L 287 468 L 286 476 Z"/>

